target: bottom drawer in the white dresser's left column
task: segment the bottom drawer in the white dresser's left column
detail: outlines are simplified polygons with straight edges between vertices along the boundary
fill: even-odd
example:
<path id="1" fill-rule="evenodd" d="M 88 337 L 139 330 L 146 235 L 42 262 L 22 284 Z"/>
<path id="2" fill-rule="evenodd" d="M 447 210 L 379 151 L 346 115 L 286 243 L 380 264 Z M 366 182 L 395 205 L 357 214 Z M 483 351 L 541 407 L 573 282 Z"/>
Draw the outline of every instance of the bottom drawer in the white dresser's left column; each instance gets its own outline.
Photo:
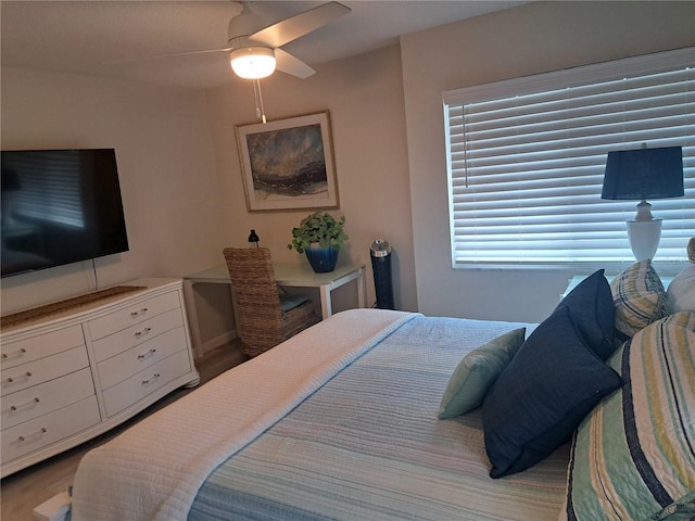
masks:
<path id="1" fill-rule="evenodd" d="M 2 462 L 72 436 L 101 421 L 97 397 L 40 416 L 2 431 Z"/>

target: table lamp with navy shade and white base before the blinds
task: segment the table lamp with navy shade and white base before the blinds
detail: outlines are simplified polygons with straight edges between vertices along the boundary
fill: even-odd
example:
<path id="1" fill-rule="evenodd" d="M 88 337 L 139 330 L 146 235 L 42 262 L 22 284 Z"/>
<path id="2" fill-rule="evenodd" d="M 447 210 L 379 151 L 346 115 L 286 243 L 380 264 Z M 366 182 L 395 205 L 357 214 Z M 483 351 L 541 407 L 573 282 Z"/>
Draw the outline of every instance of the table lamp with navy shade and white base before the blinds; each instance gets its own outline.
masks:
<path id="1" fill-rule="evenodd" d="M 681 147 L 608 152 L 601 199 L 640 201 L 637 215 L 628 220 L 628 239 L 637 260 L 654 258 L 661 238 L 661 219 L 652 215 L 646 200 L 683 194 Z"/>

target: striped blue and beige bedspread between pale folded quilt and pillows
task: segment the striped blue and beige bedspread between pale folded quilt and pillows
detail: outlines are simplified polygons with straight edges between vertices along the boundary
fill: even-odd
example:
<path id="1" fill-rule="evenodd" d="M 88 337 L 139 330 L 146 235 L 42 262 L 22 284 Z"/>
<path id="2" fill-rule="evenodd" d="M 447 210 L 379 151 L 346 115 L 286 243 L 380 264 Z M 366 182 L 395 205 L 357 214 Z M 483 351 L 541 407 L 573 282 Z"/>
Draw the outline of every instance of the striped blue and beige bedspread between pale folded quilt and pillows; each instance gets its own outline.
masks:
<path id="1" fill-rule="evenodd" d="M 568 447 L 492 480 L 479 411 L 437 419 L 464 354 L 521 326 L 404 323 L 220 465 L 189 520 L 556 520 Z"/>

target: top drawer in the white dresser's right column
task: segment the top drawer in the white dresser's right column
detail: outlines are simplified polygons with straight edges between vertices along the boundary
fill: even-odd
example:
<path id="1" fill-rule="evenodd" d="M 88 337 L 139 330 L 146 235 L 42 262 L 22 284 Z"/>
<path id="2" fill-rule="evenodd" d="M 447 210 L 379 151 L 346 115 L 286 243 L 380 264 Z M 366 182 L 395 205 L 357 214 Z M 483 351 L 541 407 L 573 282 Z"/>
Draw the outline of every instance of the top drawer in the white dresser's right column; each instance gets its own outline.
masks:
<path id="1" fill-rule="evenodd" d="M 181 303 L 178 292 L 172 291 L 115 309 L 104 317 L 90 320 L 87 327 L 89 328 L 90 338 L 98 340 L 136 323 L 143 322 L 162 313 L 180 307 Z"/>

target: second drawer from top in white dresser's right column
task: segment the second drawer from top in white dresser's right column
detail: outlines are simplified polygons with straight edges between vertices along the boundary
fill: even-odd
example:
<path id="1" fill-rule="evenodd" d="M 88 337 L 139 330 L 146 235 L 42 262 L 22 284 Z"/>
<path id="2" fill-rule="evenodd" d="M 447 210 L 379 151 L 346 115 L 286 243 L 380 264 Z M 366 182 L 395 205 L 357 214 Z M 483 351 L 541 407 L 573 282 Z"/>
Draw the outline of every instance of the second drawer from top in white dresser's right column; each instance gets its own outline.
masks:
<path id="1" fill-rule="evenodd" d="M 181 309 L 172 309 L 96 341 L 93 343 L 94 358 L 97 361 L 103 361 L 127 351 L 134 345 L 149 342 L 160 334 L 181 326 L 184 326 Z"/>

